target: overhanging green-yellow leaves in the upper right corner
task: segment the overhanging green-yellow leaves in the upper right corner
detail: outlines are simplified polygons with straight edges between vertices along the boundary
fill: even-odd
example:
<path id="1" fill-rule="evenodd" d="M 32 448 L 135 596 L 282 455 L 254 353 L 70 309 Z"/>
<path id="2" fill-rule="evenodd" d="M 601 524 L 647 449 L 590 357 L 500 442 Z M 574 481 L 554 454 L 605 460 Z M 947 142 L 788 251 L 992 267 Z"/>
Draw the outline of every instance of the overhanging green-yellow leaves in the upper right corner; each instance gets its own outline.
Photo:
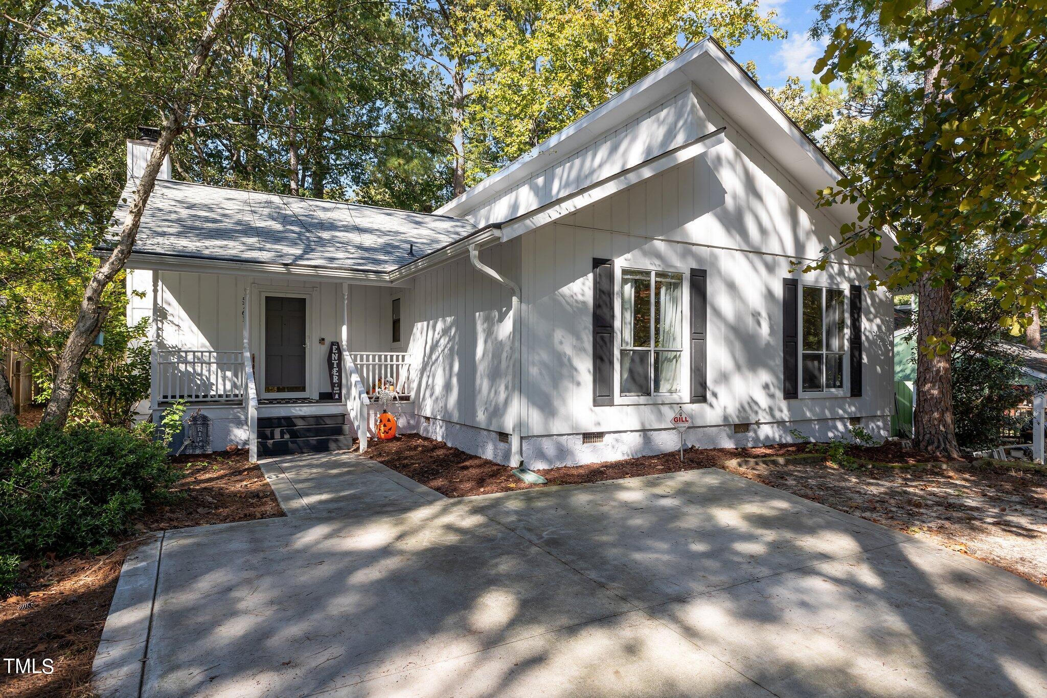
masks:
<path id="1" fill-rule="evenodd" d="M 839 22 L 816 66 L 823 84 L 869 64 L 898 66 L 887 83 L 893 99 L 878 97 L 873 112 L 890 117 L 877 125 L 879 137 L 855 150 L 852 177 L 822 192 L 826 205 L 860 202 L 861 219 L 841 229 L 848 251 L 878 247 L 892 226 L 898 254 L 877 280 L 901 288 L 929 275 L 962 295 L 970 279 L 957 258 L 964 248 L 984 250 L 992 293 L 1007 311 L 1001 323 L 1019 334 L 1047 296 L 1047 279 L 1035 274 L 1047 244 L 1047 2 L 820 7 L 816 28 L 828 33 Z"/>

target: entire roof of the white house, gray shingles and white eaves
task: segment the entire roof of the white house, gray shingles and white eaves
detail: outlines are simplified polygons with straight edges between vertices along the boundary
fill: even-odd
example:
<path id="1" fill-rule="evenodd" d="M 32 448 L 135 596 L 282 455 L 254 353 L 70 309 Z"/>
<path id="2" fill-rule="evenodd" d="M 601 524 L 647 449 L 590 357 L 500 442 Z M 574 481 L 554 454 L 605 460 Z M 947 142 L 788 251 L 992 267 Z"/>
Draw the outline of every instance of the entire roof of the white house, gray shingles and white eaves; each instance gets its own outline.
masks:
<path id="1" fill-rule="evenodd" d="M 516 201 L 520 205 L 507 220 L 491 220 L 490 216 L 484 220 L 481 216 L 476 219 L 483 224 L 481 227 L 468 220 L 470 213 L 488 202 L 499 198 L 512 201 L 516 196 L 515 185 L 520 185 L 517 190 L 528 188 L 521 184 L 528 178 L 565 160 L 652 106 L 692 88 L 714 104 L 715 110 L 727 119 L 728 128 L 743 132 L 811 198 L 816 189 L 843 177 L 818 144 L 720 44 L 709 38 L 435 213 L 157 180 L 142 217 L 132 261 L 148 257 L 150 265 L 170 266 L 176 264 L 174 257 L 179 257 L 198 260 L 199 264 L 236 264 L 266 273 L 279 270 L 396 282 L 460 254 L 469 245 L 504 241 L 535 227 L 541 216 L 555 217 L 570 208 L 564 202 L 589 196 L 600 184 L 604 188 L 611 184 L 626 186 L 647 171 L 671 166 L 681 149 L 690 153 L 688 149 L 700 145 L 694 151 L 697 153 L 713 147 L 719 142 L 716 138 L 722 140 L 723 128 L 699 134 L 694 140 L 639 164 L 623 166 L 610 176 L 586 171 L 558 199 Z M 126 213 L 133 190 L 132 180 L 114 212 L 116 218 Z M 823 211 L 844 223 L 856 218 L 857 207 L 837 204 Z M 509 227 L 505 228 L 506 225 Z M 172 262 L 162 262 L 163 257 L 171 257 Z"/>

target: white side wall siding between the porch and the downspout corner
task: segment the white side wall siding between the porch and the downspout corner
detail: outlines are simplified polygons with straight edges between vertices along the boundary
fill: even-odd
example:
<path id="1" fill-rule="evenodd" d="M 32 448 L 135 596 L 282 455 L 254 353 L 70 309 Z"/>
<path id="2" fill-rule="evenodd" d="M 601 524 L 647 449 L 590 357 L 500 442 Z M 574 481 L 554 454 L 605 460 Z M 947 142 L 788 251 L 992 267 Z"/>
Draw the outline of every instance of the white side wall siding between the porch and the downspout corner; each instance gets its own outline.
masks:
<path id="1" fill-rule="evenodd" d="M 481 261 L 519 280 L 519 241 L 482 250 Z M 512 385 L 512 294 L 468 257 L 414 279 L 410 355 L 416 411 L 508 432 Z"/>

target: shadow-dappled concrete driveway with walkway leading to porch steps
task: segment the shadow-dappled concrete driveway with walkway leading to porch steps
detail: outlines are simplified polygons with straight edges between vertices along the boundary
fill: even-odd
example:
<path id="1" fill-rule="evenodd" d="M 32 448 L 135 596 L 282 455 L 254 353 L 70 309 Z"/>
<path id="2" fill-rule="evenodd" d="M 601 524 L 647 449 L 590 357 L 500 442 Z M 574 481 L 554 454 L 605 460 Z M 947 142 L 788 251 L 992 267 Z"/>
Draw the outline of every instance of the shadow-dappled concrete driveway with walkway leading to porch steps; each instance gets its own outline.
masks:
<path id="1" fill-rule="evenodd" d="M 264 469 L 288 518 L 129 560 L 102 695 L 1047 695 L 1047 590 L 719 470 L 445 499 Z"/>

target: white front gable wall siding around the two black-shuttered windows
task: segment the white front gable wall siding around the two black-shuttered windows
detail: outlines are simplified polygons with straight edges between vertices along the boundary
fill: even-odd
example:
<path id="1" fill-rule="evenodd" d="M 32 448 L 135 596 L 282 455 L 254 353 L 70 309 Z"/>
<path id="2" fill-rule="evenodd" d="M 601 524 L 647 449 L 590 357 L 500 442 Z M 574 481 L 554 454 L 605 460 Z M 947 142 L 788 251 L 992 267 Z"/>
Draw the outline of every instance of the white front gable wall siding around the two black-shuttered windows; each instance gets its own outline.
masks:
<path id="1" fill-rule="evenodd" d="M 695 426 L 888 414 L 891 299 L 883 292 L 865 292 L 865 395 L 782 397 L 781 279 L 847 289 L 865 284 L 873 264 L 841 252 L 825 272 L 790 274 L 789 260 L 818 256 L 834 230 L 735 131 L 699 158 L 524 235 L 528 435 L 667 428 L 680 404 L 593 406 L 594 257 L 685 277 L 707 270 L 708 403 L 685 407 Z"/>

